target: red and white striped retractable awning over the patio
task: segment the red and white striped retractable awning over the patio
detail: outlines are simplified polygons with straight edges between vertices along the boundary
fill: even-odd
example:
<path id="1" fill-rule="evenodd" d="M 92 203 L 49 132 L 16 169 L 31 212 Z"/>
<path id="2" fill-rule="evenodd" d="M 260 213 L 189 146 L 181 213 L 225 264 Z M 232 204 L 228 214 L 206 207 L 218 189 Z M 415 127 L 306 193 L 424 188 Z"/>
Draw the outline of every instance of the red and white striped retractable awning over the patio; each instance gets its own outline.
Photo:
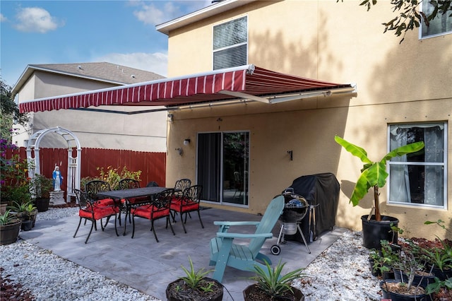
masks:
<path id="1" fill-rule="evenodd" d="M 28 100 L 20 102 L 19 109 L 20 112 L 43 112 L 101 105 L 178 107 L 236 99 L 273 103 L 281 95 L 344 89 L 353 90 L 353 87 L 350 84 L 328 83 L 246 65 L 179 78 Z"/>

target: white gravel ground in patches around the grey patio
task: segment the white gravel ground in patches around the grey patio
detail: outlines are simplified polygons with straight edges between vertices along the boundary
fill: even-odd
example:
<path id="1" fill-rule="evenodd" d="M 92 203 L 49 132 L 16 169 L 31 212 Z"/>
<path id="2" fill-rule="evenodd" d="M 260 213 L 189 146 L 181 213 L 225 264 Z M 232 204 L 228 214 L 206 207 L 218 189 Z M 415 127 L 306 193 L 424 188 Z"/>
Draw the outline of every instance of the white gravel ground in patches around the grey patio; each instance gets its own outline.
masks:
<path id="1" fill-rule="evenodd" d="M 50 208 L 39 213 L 37 220 L 73 216 L 77 211 Z M 369 252 L 361 244 L 360 232 L 347 231 L 309 264 L 304 270 L 307 277 L 294 283 L 306 301 L 380 300 L 378 279 L 369 269 Z M 0 253 L 1 301 L 157 300 L 26 241 L 0 246 Z"/>

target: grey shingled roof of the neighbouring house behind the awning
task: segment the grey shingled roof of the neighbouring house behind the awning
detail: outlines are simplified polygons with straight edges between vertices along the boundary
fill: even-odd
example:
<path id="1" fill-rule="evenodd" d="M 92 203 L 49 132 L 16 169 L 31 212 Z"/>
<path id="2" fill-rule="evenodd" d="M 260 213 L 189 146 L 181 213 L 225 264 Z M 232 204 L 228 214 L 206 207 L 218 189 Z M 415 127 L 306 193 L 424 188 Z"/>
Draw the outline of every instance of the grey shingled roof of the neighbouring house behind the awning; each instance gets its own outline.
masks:
<path id="1" fill-rule="evenodd" d="M 86 78 L 93 81 L 112 83 L 112 85 L 127 85 L 165 78 L 165 76 L 150 71 L 134 69 L 105 61 L 99 63 L 32 64 L 27 66 L 16 85 L 14 85 L 12 90 L 13 95 L 18 93 L 20 88 L 22 88 L 35 71 Z"/>

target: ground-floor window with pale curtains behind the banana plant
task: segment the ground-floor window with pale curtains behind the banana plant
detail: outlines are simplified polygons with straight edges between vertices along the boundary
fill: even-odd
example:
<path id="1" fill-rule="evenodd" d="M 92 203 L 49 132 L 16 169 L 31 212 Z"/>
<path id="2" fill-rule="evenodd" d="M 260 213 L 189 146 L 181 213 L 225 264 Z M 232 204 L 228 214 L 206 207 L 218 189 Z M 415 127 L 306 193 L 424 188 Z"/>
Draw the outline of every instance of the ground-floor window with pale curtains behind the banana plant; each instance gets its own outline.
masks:
<path id="1" fill-rule="evenodd" d="M 388 203 L 446 208 L 447 124 L 394 124 L 388 131 L 391 151 L 417 141 L 425 145 L 388 162 Z"/>

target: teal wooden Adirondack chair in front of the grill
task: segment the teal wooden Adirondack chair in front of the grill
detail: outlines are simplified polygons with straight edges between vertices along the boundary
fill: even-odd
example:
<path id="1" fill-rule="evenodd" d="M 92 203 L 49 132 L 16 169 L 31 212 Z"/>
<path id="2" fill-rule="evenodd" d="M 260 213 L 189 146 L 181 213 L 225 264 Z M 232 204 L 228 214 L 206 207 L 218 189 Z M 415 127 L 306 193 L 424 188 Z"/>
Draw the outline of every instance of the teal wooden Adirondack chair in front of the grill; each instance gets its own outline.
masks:
<path id="1" fill-rule="evenodd" d="M 266 239 L 273 237 L 273 227 L 284 209 L 284 196 L 277 196 L 268 205 L 261 221 L 215 221 L 220 230 L 217 236 L 210 240 L 210 266 L 215 266 L 212 278 L 222 281 L 226 266 L 232 266 L 242 271 L 254 271 L 254 266 L 261 266 L 266 271 L 264 261 L 271 264 L 270 258 L 262 254 L 261 247 Z M 231 226 L 256 225 L 256 232 L 227 232 Z M 250 239 L 249 244 L 234 244 L 234 238 Z M 260 261 L 260 262 L 259 262 Z"/>

